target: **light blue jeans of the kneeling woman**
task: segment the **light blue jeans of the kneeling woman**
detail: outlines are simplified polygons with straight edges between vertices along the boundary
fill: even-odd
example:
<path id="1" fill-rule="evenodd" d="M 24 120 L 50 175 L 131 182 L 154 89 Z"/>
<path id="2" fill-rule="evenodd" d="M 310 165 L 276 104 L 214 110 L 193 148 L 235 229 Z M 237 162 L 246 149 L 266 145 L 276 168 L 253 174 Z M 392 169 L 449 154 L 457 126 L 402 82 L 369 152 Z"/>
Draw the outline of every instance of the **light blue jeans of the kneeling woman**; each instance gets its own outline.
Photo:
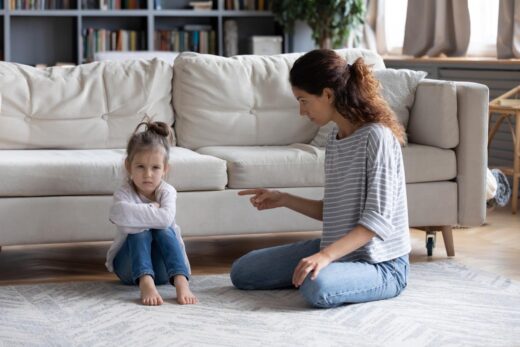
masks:
<path id="1" fill-rule="evenodd" d="M 320 239 L 259 249 L 237 259 L 231 281 L 239 289 L 294 288 L 298 262 L 320 251 Z M 299 291 L 315 307 L 336 307 L 395 297 L 406 287 L 408 255 L 370 264 L 365 261 L 333 262 L 315 280 L 307 276 Z"/>

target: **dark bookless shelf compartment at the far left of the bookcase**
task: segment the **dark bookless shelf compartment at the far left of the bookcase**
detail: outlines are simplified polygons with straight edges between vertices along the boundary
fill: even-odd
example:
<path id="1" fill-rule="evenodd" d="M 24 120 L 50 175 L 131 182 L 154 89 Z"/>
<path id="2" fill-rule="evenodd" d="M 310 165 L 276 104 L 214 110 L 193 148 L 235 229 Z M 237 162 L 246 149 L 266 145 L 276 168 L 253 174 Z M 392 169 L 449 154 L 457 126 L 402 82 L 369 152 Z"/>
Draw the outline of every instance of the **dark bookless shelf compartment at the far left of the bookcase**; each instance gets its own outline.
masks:
<path id="1" fill-rule="evenodd" d="M 76 17 L 11 18 L 11 61 L 36 65 L 77 62 Z"/>

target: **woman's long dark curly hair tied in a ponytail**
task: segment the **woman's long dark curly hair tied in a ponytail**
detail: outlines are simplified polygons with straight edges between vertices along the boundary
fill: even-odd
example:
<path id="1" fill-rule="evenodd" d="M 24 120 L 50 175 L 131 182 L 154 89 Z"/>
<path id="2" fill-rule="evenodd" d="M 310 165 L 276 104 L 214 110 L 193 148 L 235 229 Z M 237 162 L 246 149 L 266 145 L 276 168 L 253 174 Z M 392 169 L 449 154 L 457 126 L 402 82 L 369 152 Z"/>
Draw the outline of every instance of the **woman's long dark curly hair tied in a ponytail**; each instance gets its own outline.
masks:
<path id="1" fill-rule="evenodd" d="M 333 50 L 316 49 L 296 60 L 289 80 L 293 87 L 317 96 L 325 88 L 332 89 L 334 106 L 354 126 L 381 123 L 404 143 L 404 129 L 379 93 L 379 82 L 363 58 L 350 65 Z"/>

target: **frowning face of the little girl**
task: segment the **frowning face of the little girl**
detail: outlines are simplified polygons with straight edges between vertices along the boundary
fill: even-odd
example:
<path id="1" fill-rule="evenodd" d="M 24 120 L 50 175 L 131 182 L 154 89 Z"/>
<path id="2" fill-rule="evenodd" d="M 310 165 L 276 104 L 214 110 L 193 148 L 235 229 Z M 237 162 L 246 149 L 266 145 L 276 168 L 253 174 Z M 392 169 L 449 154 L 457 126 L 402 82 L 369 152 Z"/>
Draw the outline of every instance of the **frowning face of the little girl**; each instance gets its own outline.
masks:
<path id="1" fill-rule="evenodd" d="M 125 161 L 126 170 L 137 192 L 150 200 L 155 200 L 155 189 L 168 172 L 164 150 L 161 148 L 139 151 L 132 162 Z"/>

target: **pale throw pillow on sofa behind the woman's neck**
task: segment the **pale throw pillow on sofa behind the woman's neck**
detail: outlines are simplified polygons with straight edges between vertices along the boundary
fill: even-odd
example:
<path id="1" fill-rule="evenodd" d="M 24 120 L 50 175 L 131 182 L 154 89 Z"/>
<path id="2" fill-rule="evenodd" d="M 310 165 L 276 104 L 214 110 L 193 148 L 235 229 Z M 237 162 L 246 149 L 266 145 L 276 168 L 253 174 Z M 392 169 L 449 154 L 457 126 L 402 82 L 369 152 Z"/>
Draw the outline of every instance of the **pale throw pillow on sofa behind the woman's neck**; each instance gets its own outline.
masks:
<path id="1" fill-rule="evenodd" d="M 408 127 L 408 119 L 410 118 L 410 110 L 415 100 L 417 85 L 426 75 L 427 73 L 424 71 L 408 69 L 374 70 L 374 76 L 381 84 L 381 95 L 395 112 L 405 130 Z M 333 127 L 334 124 L 332 122 L 322 126 L 310 144 L 317 147 L 325 147 L 327 135 Z"/>

